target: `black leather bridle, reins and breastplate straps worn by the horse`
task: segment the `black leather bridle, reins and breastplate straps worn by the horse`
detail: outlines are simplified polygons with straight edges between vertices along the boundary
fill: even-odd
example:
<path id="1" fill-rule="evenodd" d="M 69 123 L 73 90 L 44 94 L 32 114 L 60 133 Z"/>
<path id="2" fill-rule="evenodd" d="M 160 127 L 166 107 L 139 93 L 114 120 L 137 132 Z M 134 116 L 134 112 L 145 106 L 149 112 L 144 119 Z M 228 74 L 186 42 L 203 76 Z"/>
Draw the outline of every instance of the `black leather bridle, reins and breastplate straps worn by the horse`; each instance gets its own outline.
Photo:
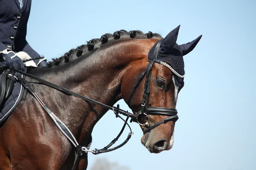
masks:
<path id="1" fill-rule="evenodd" d="M 25 95 L 27 93 L 27 91 L 29 91 L 30 94 L 32 94 L 32 96 L 35 97 L 35 99 L 38 100 L 38 102 L 41 104 L 41 106 L 44 108 L 44 110 L 48 113 L 48 115 L 51 117 L 51 119 L 53 120 L 53 122 L 55 123 L 55 125 L 59 128 L 59 130 L 64 134 L 64 136 L 66 136 L 66 138 L 70 141 L 70 143 L 75 147 L 76 149 L 76 155 L 75 155 L 75 162 L 74 162 L 74 165 L 73 165 L 73 168 L 72 170 L 75 170 L 76 167 L 78 166 L 79 164 L 79 161 L 81 159 L 81 156 L 83 153 L 88 153 L 88 152 L 91 152 L 93 154 L 99 154 L 99 153 L 106 153 L 106 152 L 110 152 L 110 151 L 113 151 L 113 150 L 116 150 L 120 147 L 122 147 L 123 145 L 125 145 L 128 140 L 131 138 L 131 135 L 133 134 L 132 130 L 131 130 L 131 127 L 129 126 L 128 124 L 128 119 L 131 118 L 131 122 L 137 122 L 139 123 L 140 125 L 142 126 L 145 126 L 147 129 L 144 131 L 144 134 L 145 133 L 148 133 L 150 132 L 154 127 L 157 127 L 158 125 L 161 125 L 162 123 L 165 123 L 165 122 L 169 122 L 171 120 L 174 120 L 174 121 L 177 121 L 178 119 L 178 116 L 177 116 L 177 110 L 176 109 L 173 109 L 173 108 L 162 108 L 162 107 L 149 107 L 148 106 L 148 97 L 149 97 L 149 93 L 150 93 L 150 87 L 149 87 L 149 84 L 150 84 L 150 77 L 151 77 L 151 71 L 152 71 L 152 65 L 154 64 L 154 62 L 157 62 L 157 63 L 160 63 L 159 60 L 157 60 L 157 54 L 158 54 L 158 51 L 159 51 L 159 47 L 160 47 L 160 43 L 161 41 L 159 41 L 156 45 L 156 48 L 154 50 L 154 60 L 151 60 L 147 66 L 147 68 L 145 69 L 145 71 L 140 75 L 139 79 L 137 80 L 136 84 L 134 85 L 132 91 L 131 91 L 131 94 L 130 94 L 130 97 L 128 99 L 128 105 L 130 105 L 130 102 L 131 102 L 131 98 L 136 90 L 136 88 L 138 87 L 138 85 L 140 84 L 140 82 L 142 81 L 142 79 L 146 76 L 145 78 L 145 85 L 144 85 L 144 92 L 143 92 L 143 99 L 142 99 L 142 104 L 141 104 L 141 108 L 140 108 L 140 111 L 137 115 L 133 114 L 133 113 L 129 113 L 128 111 L 124 111 L 122 109 L 119 108 L 119 105 L 117 105 L 117 107 L 114 107 L 114 106 L 108 106 L 108 105 L 105 105 L 101 102 L 97 102 L 93 99 L 90 99 L 86 96 L 82 96 L 80 94 L 77 94 L 73 91 L 70 91 L 66 88 L 63 88 L 61 86 L 58 86 L 58 85 L 55 85 L 51 82 L 48 82 L 46 80 L 43 80 L 43 79 L 40 79 L 38 77 L 35 77 L 31 74 L 27 74 L 23 71 L 19 71 L 17 69 L 14 68 L 14 71 L 11 71 L 9 70 L 10 73 L 14 74 L 15 77 L 22 83 L 23 87 L 25 88 Z M 107 146 L 105 146 L 104 148 L 102 149 L 94 149 L 94 150 L 89 150 L 90 148 L 90 144 L 87 146 L 87 147 L 82 147 L 81 145 L 79 145 L 79 143 L 76 141 L 76 138 L 73 136 L 73 134 L 71 133 L 71 131 L 69 130 L 69 128 L 63 123 L 61 122 L 60 119 L 58 119 L 58 117 L 52 113 L 52 111 L 47 107 L 47 105 L 44 104 L 44 102 L 40 99 L 40 97 L 35 93 L 35 91 L 33 91 L 33 89 L 31 88 L 29 82 L 20 76 L 20 74 L 17 74 L 17 73 L 20 73 L 20 74 L 23 74 L 27 77 L 30 77 L 32 79 L 35 79 L 37 80 L 38 82 L 41 82 L 42 84 L 44 85 L 47 85 L 51 88 L 54 88 L 58 91 L 61 91 L 61 92 L 64 92 L 66 94 L 70 94 L 70 95 L 73 95 L 73 96 L 76 96 L 80 99 L 83 99 L 85 101 L 88 101 L 88 102 L 92 102 L 96 105 L 99 105 L 103 108 L 107 108 L 108 110 L 112 110 L 114 112 L 114 114 L 116 115 L 116 117 L 119 117 L 120 119 L 122 119 L 125 123 L 120 131 L 120 133 L 116 136 L 116 138 L 114 138 Z M 32 83 L 32 82 L 30 82 Z M 127 119 L 123 119 L 120 115 L 124 115 L 124 116 L 127 116 Z M 163 119 L 162 121 L 154 124 L 154 125 L 149 125 L 149 117 L 148 115 L 149 114 L 156 114 L 156 115 L 165 115 L 165 116 L 169 116 L 165 119 Z M 148 118 L 148 122 L 146 122 L 145 124 L 141 124 L 139 121 L 138 121 L 138 118 L 139 116 L 147 116 Z M 111 149 L 108 149 L 109 147 L 111 147 L 118 139 L 119 137 L 121 136 L 123 130 L 125 129 L 125 126 L 128 125 L 129 129 L 130 129 L 130 133 L 128 133 L 128 137 L 127 139 L 125 139 L 124 142 L 122 142 L 122 144 L 119 144 L 118 146 L 116 147 L 113 147 Z M 92 138 L 91 138 L 91 141 L 92 141 Z"/>

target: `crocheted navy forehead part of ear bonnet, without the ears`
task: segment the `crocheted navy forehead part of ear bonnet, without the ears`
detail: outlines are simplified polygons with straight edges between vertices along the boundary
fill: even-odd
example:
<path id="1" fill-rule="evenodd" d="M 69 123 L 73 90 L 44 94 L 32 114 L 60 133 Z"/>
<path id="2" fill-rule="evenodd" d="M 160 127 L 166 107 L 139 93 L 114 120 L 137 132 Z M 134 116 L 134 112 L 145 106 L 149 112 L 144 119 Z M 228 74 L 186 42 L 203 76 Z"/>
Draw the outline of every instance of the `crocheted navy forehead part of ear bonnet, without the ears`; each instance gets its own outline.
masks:
<path id="1" fill-rule="evenodd" d="M 162 40 L 159 40 L 162 41 Z M 157 41 L 158 42 L 158 41 Z M 154 46 L 150 49 L 148 52 L 148 59 L 154 59 L 154 49 L 157 46 L 157 42 L 154 44 Z M 167 62 L 178 74 L 184 75 L 184 60 L 182 56 L 182 51 L 180 49 L 180 46 L 175 43 L 173 46 L 173 50 L 170 54 L 163 54 L 160 51 L 158 52 L 157 59 L 159 59 L 162 62 Z M 150 61 L 150 60 L 148 60 Z M 177 75 L 174 74 L 175 83 L 177 86 L 183 86 L 184 78 L 177 77 Z"/>

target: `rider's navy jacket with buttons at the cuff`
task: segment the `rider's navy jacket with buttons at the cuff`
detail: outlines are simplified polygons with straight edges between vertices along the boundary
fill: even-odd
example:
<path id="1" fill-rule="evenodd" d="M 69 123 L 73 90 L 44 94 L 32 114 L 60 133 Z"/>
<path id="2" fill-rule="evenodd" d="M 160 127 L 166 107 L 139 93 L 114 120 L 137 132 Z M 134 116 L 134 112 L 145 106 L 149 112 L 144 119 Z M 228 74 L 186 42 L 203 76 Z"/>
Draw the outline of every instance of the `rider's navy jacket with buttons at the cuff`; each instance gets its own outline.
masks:
<path id="1" fill-rule="evenodd" d="M 11 48 L 15 52 L 24 51 L 32 58 L 39 57 L 26 41 L 31 0 L 22 3 L 20 9 L 19 0 L 0 0 L 0 51 Z"/>

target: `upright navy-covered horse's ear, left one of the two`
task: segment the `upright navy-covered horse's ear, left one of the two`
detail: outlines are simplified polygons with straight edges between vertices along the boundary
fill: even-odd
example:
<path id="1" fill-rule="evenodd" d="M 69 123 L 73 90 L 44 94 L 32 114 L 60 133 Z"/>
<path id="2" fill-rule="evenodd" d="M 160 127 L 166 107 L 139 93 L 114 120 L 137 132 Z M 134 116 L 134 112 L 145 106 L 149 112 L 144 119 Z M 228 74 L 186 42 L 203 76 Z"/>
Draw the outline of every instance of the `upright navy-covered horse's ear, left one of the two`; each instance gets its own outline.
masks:
<path id="1" fill-rule="evenodd" d="M 172 51 L 173 46 L 175 45 L 179 33 L 180 25 L 177 28 L 173 29 L 161 42 L 159 52 L 163 54 L 168 54 Z"/>

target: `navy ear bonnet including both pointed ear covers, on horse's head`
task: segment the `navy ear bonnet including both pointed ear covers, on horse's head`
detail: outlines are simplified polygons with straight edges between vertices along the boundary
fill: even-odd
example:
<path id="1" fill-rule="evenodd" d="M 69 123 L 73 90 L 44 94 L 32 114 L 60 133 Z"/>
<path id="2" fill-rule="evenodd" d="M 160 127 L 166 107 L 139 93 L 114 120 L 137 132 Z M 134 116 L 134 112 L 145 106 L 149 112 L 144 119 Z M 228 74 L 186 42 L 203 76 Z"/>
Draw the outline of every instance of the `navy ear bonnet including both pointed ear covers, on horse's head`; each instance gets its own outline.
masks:
<path id="1" fill-rule="evenodd" d="M 177 86 L 183 86 L 184 78 L 179 77 L 185 75 L 183 56 L 185 56 L 195 48 L 195 46 L 201 39 L 202 35 L 200 35 L 192 42 L 178 45 L 176 41 L 178 37 L 179 28 L 180 26 L 177 26 L 177 28 L 169 32 L 169 34 L 167 34 L 163 40 L 159 40 L 162 42 L 160 44 L 157 59 L 161 62 L 166 62 L 177 72 L 176 74 L 173 74 L 175 78 L 175 84 Z M 156 45 L 159 41 L 157 41 L 148 52 L 148 59 L 154 60 L 154 49 L 156 48 Z M 150 62 L 150 60 L 148 61 Z M 177 76 L 177 74 L 180 75 Z"/>

